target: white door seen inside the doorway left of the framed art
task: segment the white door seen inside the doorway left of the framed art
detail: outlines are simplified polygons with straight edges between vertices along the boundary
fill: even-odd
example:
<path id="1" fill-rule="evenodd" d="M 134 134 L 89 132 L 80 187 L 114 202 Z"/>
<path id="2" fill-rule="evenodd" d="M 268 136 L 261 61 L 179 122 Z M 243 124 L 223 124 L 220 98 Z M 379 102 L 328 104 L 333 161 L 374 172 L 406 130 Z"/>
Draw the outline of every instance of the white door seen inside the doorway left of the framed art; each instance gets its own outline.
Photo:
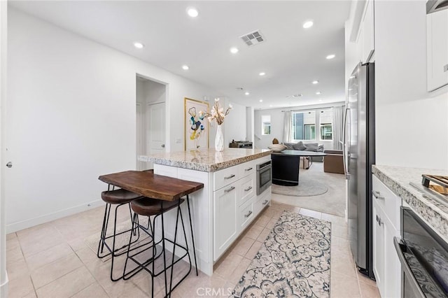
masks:
<path id="1" fill-rule="evenodd" d="M 165 102 L 146 107 L 146 153 L 165 152 Z M 152 166 L 151 166 L 152 168 Z"/>

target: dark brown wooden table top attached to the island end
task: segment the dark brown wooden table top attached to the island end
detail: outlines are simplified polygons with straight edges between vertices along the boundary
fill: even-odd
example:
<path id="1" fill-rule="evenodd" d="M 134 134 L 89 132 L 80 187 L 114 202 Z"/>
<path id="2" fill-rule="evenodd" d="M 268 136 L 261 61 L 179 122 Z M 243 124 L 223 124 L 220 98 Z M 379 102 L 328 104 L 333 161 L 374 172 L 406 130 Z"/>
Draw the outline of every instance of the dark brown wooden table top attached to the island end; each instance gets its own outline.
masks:
<path id="1" fill-rule="evenodd" d="M 165 201 L 174 201 L 204 187 L 203 183 L 156 175 L 147 171 L 111 173 L 99 176 L 98 179 L 144 197 Z"/>

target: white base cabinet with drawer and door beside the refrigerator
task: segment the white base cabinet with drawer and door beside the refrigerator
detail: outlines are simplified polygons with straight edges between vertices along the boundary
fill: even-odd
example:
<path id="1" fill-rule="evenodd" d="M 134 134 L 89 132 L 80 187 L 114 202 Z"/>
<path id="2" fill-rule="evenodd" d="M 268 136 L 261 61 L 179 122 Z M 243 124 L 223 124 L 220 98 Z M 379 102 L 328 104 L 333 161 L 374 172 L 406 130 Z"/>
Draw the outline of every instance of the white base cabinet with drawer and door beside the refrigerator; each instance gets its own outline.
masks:
<path id="1" fill-rule="evenodd" d="M 401 267 L 393 237 L 400 237 L 401 199 L 376 176 L 372 182 L 373 273 L 381 297 L 400 297 Z"/>

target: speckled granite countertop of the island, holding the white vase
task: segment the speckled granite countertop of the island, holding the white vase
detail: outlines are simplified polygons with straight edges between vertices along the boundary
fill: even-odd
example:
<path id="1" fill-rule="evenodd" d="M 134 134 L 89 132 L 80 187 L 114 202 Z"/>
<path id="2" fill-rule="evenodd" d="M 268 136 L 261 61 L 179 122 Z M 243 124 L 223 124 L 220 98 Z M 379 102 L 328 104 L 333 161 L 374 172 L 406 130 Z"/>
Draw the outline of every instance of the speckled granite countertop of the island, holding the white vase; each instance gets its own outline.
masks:
<path id="1" fill-rule="evenodd" d="M 202 149 L 164 152 L 148 156 L 140 155 L 138 159 L 141 162 L 154 162 L 165 166 L 214 172 L 270 155 L 271 152 L 266 149 L 225 148 L 222 152 L 214 149 Z"/>

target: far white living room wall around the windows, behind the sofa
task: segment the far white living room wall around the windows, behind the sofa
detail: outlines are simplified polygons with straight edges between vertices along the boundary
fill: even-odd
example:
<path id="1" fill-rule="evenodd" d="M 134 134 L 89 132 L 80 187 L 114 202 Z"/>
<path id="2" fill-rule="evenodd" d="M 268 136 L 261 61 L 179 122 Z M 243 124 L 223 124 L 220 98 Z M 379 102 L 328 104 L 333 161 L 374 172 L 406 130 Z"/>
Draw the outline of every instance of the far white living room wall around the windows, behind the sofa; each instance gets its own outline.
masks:
<path id="1" fill-rule="evenodd" d="M 267 149 L 267 146 L 272 144 L 272 140 L 276 138 L 280 143 L 284 142 L 283 140 L 283 122 L 284 122 L 284 113 L 282 111 L 286 110 L 307 110 L 310 108 L 328 108 L 331 106 L 342 106 L 343 102 L 337 102 L 334 104 L 321 104 L 321 105 L 310 105 L 310 106 L 296 106 L 292 108 L 273 108 L 269 110 L 256 110 L 254 115 L 254 130 L 255 130 L 255 148 L 259 149 Z M 270 135 L 262 135 L 261 134 L 261 116 L 262 115 L 270 115 L 271 116 L 271 134 Z M 316 125 L 318 123 L 316 122 Z M 317 128 L 318 126 L 316 126 Z M 317 129 L 316 129 L 317 132 Z M 324 149 L 332 149 L 332 141 L 304 141 L 304 143 L 319 143 L 322 144 Z"/>

